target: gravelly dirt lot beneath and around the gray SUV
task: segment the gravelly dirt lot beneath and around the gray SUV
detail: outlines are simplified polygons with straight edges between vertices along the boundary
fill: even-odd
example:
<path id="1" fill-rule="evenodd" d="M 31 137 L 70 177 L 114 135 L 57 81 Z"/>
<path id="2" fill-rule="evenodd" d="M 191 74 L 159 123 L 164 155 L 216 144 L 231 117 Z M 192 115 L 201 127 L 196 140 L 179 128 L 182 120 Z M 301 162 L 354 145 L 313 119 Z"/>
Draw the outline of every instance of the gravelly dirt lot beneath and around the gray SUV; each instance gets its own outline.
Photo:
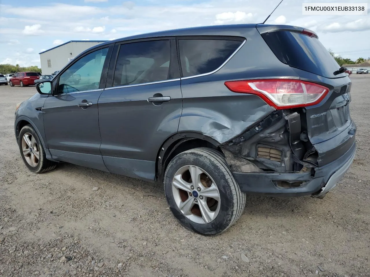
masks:
<path id="1" fill-rule="evenodd" d="M 72 164 L 31 174 L 13 121 L 36 89 L 1 86 L 0 276 L 370 276 L 370 74 L 351 79 L 357 157 L 339 185 L 249 196 L 213 237 L 182 228 L 161 186 Z"/>

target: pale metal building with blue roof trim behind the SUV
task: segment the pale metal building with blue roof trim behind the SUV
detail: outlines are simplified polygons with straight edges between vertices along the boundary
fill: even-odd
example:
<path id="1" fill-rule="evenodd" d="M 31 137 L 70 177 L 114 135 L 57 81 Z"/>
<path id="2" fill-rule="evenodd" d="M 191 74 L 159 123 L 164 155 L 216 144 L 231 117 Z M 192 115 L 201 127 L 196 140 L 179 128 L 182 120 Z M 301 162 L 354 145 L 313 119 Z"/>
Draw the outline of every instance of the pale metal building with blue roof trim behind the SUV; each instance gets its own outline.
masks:
<path id="1" fill-rule="evenodd" d="M 62 69 L 68 62 L 86 49 L 106 40 L 71 40 L 40 52 L 41 71 L 44 75 Z"/>

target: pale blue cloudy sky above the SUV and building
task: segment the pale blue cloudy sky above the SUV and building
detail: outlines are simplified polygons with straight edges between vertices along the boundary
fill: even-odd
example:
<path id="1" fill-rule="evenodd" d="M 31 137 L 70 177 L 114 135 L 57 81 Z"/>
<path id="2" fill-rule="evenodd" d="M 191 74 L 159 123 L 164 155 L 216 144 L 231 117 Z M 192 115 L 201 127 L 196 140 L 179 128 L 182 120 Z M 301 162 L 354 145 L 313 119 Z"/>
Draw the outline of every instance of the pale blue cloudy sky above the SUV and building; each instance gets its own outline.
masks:
<path id="1" fill-rule="evenodd" d="M 305 27 L 315 31 L 326 48 L 344 58 L 370 57 L 370 11 L 366 16 L 303 16 L 302 2 L 284 0 L 266 24 Z M 70 40 L 112 40 L 176 28 L 261 23 L 278 3 L 279 0 L 0 0 L 0 64 L 40 66 L 39 52 Z"/>

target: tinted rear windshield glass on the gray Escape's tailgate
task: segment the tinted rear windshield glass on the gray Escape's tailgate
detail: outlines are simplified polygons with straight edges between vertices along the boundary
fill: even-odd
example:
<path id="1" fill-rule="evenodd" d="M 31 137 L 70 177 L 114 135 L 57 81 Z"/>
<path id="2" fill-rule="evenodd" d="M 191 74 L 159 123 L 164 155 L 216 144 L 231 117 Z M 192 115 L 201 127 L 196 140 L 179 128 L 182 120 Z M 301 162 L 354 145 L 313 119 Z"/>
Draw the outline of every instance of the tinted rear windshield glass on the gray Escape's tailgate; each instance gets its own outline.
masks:
<path id="1" fill-rule="evenodd" d="M 289 31 L 265 33 L 262 37 L 287 65 L 328 78 L 335 77 L 333 72 L 340 68 L 317 38 Z"/>

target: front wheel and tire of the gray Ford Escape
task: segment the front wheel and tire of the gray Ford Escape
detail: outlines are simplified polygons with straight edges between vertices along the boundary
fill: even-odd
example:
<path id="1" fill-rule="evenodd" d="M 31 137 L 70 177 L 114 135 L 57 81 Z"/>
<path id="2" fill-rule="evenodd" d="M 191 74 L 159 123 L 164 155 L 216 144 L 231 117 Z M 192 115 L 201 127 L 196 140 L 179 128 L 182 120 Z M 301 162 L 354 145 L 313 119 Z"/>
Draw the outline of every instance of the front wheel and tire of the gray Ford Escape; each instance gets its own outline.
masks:
<path id="1" fill-rule="evenodd" d="M 24 164 L 31 172 L 43 173 L 56 167 L 55 162 L 46 158 L 40 138 L 31 125 L 26 125 L 21 129 L 18 145 Z"/>

